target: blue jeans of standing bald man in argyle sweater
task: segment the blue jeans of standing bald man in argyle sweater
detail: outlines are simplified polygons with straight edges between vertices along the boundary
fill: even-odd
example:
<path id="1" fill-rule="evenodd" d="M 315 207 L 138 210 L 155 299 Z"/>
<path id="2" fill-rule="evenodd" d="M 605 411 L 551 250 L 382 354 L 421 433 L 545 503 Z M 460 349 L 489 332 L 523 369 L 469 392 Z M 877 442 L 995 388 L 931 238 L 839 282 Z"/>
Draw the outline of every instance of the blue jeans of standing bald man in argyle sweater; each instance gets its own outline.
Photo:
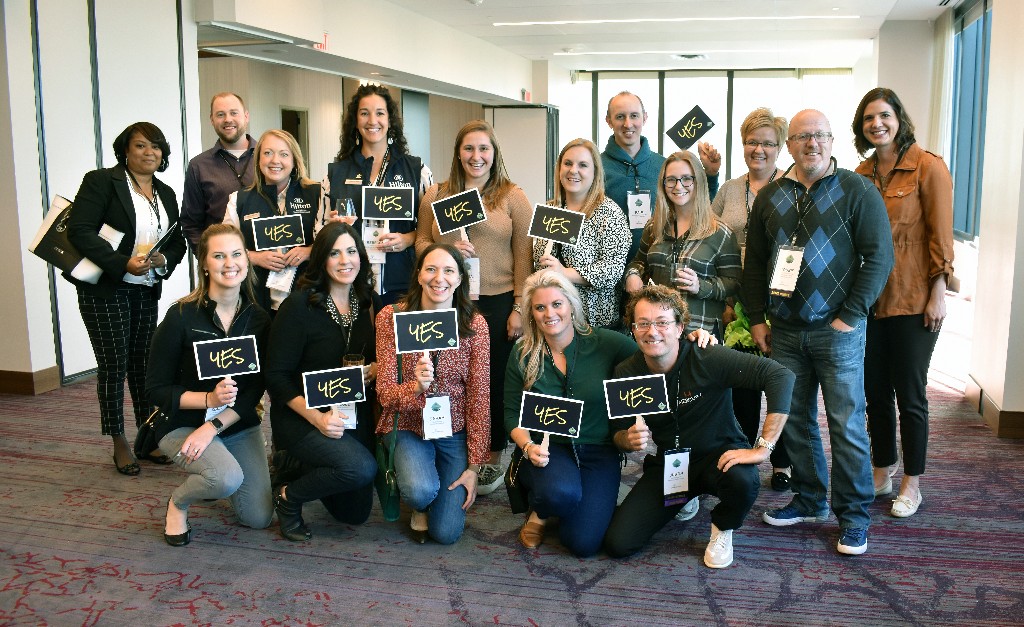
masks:
<path id="1" fill-rule="evenodd" d="M 793 460 L 793 504 L 806 515 L 828 513 L 828 465 L 818 428 L 818 386 L 831 440 L 831 505 L 841 528 L 866 529 L 874 500 L 864 419 L 864 323 L 843 333 L 772 328 L 771 357 L 797 375 L 783 436 Z"/>

